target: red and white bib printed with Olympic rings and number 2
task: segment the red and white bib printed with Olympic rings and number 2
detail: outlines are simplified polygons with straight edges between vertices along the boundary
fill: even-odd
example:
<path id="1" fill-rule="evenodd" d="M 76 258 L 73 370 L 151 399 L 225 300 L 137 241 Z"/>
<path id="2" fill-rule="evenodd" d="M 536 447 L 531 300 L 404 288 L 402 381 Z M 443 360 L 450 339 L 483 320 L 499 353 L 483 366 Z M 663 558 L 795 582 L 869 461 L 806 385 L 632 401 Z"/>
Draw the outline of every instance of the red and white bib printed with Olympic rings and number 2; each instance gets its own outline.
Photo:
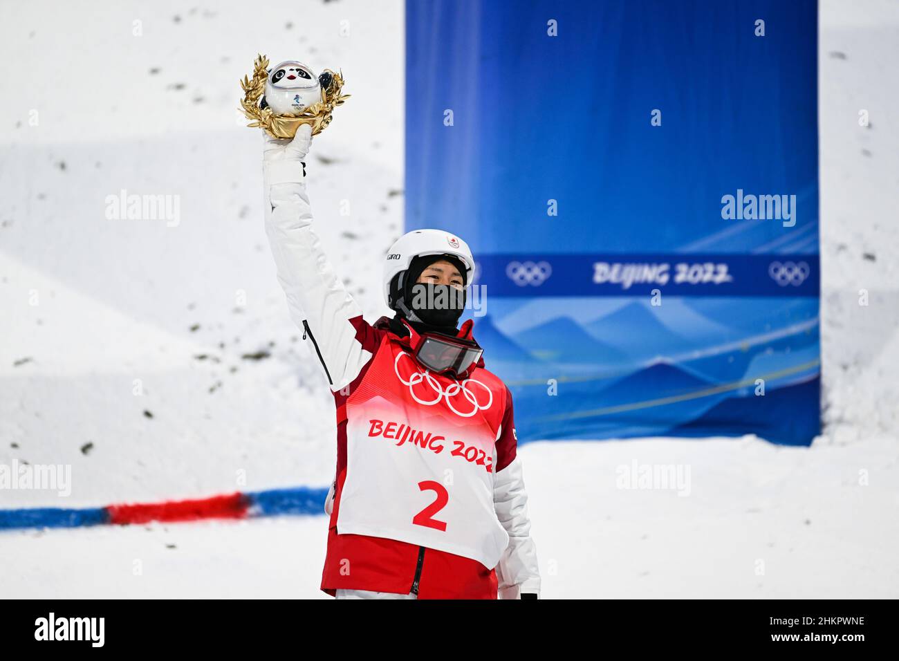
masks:
<path id="1" fill-rule="evenodd" d="M 385 337 L 346 401 L 337 530 L 496 566 L 509 535 L 494 512 L 494 443 L 507 390 L 489 371 L 427 371 Z"/>

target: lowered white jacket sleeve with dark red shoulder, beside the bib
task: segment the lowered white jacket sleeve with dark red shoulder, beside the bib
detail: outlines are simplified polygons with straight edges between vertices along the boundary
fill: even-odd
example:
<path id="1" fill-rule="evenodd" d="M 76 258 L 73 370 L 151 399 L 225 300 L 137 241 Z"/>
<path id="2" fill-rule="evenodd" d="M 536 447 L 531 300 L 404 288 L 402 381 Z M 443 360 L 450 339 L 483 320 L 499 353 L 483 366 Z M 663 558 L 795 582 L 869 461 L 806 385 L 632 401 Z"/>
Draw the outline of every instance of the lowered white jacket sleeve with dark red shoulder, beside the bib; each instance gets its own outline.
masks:
<path id="1" fill-rule="evenodd" d="M 494 510 L 509 534 L 509 546 L 496 566 L 502 599 L 540 593 L 537 547 L 530 538 L 528 495 L 524 488 L 518 437 L 512 412 L 512 394 L 506 389 L 506 410 L 497 434 L 494 463 Z"/>

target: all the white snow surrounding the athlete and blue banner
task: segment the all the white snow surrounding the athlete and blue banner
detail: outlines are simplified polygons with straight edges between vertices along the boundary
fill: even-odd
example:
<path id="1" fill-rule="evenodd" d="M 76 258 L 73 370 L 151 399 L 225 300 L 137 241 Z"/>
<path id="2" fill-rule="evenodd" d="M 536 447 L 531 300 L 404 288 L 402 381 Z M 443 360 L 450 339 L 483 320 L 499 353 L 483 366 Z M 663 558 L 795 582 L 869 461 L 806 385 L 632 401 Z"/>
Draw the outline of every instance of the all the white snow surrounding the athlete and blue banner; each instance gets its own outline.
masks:
<path id="1" fill-rule="evenodd" d="M 71 496 L 0 507 L 325 486 L 332 399 L 274 277 L 237 78 L 259 50 L 343 68 L 355 96 L 309 190 L 377 317 L 402 231 L 403 4 L 95 11 L 0 4 L 24 78 L 0 79 L 0 464 L 73 471 Z M 899 4 L 828 0 L 820 20 L 825 433 L 524 445 L 545 597 L 899 596 Z M 180 222 L 106 219 L 121 189 L 179 195 Z M 689 495 L 617 487 L 635 461 L 690 469 Z M 317 597 L 324 555 L 323 517 L 6 532 L 0 594 Z"/>

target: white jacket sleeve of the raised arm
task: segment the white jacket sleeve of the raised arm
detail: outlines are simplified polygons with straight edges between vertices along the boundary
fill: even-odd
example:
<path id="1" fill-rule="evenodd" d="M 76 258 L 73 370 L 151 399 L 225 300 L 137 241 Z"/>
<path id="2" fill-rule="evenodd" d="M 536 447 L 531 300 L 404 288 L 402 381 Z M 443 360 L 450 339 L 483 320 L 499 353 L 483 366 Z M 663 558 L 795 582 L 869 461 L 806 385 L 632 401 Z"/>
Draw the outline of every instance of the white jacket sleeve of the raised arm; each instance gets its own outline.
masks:
<path id="1" fill-rule="evenodd" d="M 374 331 L 325 256 L 312 225 L 298 160 L 263 162 L 265 231 L 290 317 L 308 335 L 331 389 L 342 389 L 371 358 Z"/>

